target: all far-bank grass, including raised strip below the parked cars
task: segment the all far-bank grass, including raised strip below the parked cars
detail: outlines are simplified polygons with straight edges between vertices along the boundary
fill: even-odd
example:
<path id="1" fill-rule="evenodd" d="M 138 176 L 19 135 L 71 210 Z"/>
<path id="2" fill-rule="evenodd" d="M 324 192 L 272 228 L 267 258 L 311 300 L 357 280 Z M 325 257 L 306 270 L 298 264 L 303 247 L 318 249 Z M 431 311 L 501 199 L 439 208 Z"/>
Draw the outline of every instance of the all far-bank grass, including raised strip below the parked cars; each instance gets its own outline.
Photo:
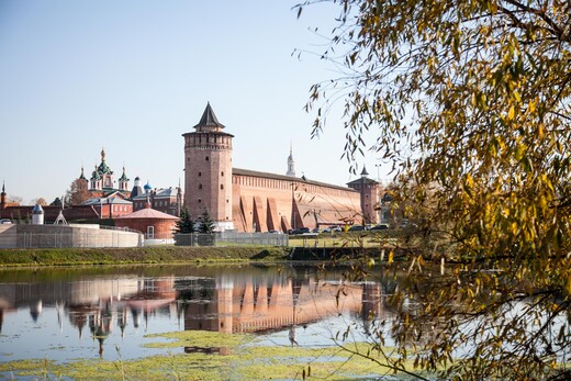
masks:
<path id="1" fill-rule="evenodd" d="M 329 259 L 340 250 L 347 254 L 361 249 L 391 249 L 396 246 L 396 239 L 382 233 L 360 232 L 340 233 L 335 236 L 291 236 L 290 247 L 165 245 L 131 248 L 0 249 L 0 267 L 281 261 L 290 259 L 294 247 L 298 248 L 296 259 L 320 260 Z M 320 251 L 316 253 L 316 249 Z M 324 255 L 323 250 L 327 254 Z"/>

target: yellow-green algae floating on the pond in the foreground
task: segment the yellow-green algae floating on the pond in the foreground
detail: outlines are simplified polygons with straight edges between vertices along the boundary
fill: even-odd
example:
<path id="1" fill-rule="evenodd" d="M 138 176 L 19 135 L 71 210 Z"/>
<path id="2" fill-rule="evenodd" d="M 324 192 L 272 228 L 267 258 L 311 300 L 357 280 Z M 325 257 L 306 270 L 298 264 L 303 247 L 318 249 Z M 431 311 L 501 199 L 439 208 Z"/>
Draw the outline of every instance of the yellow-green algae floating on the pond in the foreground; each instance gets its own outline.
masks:
<path id="1" fill-rule="evenodd" d="M 347 380 L 392 374 L 388 368 L 336 346 L 257 346 L 257 337 L 251 334 L 204 330 L 145 337 L 150 341 L 169 339 L 145 345 L 169 352 L 133 360 L 81 359 L 64 365 L 48 360 L 11 361 L 0 363 L 0 372 L 40 380 L 299 380 L 304 371 L 306 376 L 311 372 L 314 379 Z M 209 351 L 208 348 L 217 350 Z M 357 344 L 355 348 L 365 346 Z M 401 376 L 387 379 L 407 380 Z"/>

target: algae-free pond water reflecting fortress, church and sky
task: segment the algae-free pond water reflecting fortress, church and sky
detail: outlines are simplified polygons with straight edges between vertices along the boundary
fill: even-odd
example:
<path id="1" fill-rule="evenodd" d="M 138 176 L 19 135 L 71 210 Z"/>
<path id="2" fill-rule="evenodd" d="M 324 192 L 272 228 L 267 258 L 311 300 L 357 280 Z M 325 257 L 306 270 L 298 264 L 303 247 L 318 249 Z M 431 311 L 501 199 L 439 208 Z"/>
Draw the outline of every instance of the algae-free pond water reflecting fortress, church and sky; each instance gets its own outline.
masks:
<path id="1" fill-rule="evenodd" d="M 113 350 L 105 348 L 117 343 L 123 358 L 147 356 L 149 350 L 141 348 L 144 333 L 180 329 L 279 332 L 294 346 L 300 327 L 349 315 L 367 330 L 370 316 L 382 313 L 380 283 L 346 284 L 335 271 L 316 273 L 307 267 L 16 270 L 3 271 L 2 279 L 0 352 L 8 354 L 3 361 L 43 357 L 42 350 L 54 347 L 67 352 L 60 360 L 93 351 L 109 358 Z M 32 337 L 40 348 L 30 348 Z M 227 349 L 183 350 L 225 354 Z"/>

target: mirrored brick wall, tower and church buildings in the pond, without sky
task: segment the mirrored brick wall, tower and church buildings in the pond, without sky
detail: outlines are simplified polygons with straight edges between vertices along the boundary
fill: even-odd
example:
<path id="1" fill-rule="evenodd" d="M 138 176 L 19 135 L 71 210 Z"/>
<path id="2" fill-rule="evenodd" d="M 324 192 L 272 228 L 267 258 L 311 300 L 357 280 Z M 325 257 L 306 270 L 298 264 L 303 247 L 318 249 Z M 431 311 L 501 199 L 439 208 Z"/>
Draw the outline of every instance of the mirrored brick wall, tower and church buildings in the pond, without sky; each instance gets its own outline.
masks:
<path id="1" fill-rule="evenodd" d="M 183 321 L 186 330 L 290 329 L 294 344 L 295 326 L 350 313 L 360 316 L 367 329 L 370 318 L 383 313 L 379 283 L 343 284 L 310 274 L 98 279 L 51 287 L 0 284 L 0 333 L 10 312 L 29 307 L 37 322 L 47 305 L 58 310 L 59 324 L 67 315 L 79 338 L 89 332 L 99 341 L 100 356 L 105 338 L 114 329 L 123 336 L 130 324 L 145 328 L 156 314 Z"/>

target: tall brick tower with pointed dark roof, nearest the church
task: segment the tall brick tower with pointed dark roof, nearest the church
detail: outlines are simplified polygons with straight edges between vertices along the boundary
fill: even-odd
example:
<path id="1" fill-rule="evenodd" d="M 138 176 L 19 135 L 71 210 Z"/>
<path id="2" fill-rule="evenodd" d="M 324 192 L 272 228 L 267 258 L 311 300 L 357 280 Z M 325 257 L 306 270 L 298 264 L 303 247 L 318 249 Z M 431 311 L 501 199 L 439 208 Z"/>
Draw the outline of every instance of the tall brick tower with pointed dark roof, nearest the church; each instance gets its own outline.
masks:
<path id="1" fill-rule="evenodd" d="M 215 231 L 233 229 L 232 138 L 206 104 L 194 132 L 184 137 L 184 206 L 197 221 L 208 210 Z"/>

